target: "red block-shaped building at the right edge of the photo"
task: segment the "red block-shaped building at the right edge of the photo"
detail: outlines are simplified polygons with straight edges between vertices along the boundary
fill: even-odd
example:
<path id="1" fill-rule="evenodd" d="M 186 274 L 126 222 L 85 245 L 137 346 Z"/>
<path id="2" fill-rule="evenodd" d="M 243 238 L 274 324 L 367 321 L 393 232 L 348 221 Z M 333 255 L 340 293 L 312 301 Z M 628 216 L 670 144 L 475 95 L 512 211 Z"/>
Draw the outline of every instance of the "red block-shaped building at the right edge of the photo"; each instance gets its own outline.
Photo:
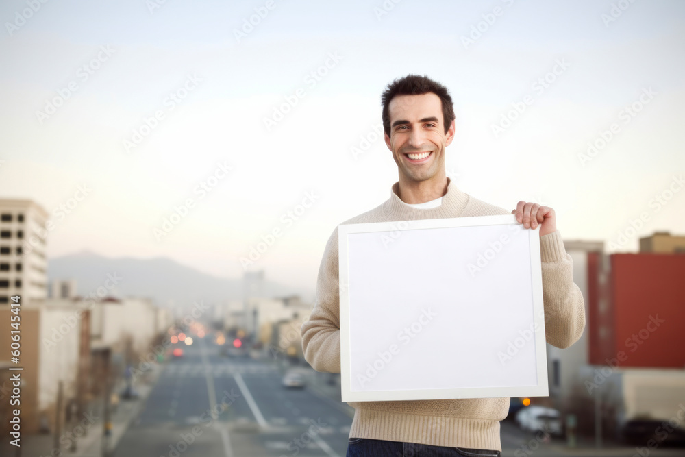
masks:
<path id="1" fill-rule="evenodd" d="M 590 364 L 625 354 L 621 367 L 683 369 L 684 277 L 685 256 L 642 253 L 612 254 L 604 282 L 590 274 Z"/>

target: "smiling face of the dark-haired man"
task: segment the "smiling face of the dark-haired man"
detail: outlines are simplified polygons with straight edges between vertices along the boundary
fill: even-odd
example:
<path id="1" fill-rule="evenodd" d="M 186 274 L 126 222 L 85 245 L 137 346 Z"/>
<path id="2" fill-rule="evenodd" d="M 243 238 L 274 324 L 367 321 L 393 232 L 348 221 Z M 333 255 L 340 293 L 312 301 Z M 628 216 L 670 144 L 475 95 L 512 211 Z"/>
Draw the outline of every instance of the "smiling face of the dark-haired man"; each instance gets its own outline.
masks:
<path id="1" fill-rule="evenodd" d="M 393 151 L 400 182 L 441 180 L 445 176 L 445 147 L 454 138 L 454 122 L 447 134 L 443 106 L 434 93 L 397 95 L 388 105 L 390 136 L 386 145 Z"/>

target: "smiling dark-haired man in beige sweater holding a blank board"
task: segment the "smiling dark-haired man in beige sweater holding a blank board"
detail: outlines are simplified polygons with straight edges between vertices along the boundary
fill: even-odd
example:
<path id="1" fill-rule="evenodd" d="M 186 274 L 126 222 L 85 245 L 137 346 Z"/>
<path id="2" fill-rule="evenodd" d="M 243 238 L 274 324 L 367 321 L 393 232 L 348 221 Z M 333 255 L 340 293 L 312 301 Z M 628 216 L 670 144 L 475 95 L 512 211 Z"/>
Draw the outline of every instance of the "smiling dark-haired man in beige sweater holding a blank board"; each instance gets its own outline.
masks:
<path id="1" fill-rule="evenodd" d="M 547 342 L 560 348 L 575 343 L 585 326 L 585 308 L 554 210 L 519 201 L 510 213 L 463 193 L 449 180 L 445 147 L 454 138 L 454 112 L 441 84 L 408 75 L 388 85 L 382 102 L 385 141 L 397 163 L 399 182 L 388 201 L 345 223 L 516 214 L 525 228 L 539 225 Z M 314 310 L 301 330 L 305 358 L 316 371 L 340 373 L 339 307 L 336 229 L 321 261 Z M 499 421 L 508 413 L 509 399 L 350 405 L 355 415 L 347 456 L 499 456 Z"/>

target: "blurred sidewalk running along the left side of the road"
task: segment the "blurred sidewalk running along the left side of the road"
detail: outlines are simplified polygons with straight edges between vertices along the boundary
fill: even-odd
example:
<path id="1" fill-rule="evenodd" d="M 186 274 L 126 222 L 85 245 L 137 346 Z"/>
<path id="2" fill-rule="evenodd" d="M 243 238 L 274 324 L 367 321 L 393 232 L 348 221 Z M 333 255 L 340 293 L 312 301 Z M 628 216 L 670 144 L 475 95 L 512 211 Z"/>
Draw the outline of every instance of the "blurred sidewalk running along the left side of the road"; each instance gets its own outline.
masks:
<path id="1" fill-rule="evenodd" d="M 110 412 L 110 422 L 112 423 L 112 434 L 110 436 L 109 448 L 115 449 L 116 443 L 126 432 L 129 423 L 138 417 L 138 414 L 145 407 L 145 401 L 148 395 L 157 383 L 160 374 L 164 370 L 164 365 L 154 364 L 151 369 L 138 379 L 134 380 L 135 391 L 138 392 L 138 398 L 136 399 L 120 399 L 119 406 L 116 411 Z M 125 387 L 125 381 L 123 379 L 118 380 L 114 392 L 120 393 Z M 66 432 L 71 429 L 69 425 L 66 425 L 62 430 L 62 441 L 60 442 L 60 447 L 55 448 L 55 436 L 53 434 L 35 434 L 23 436 L 21 440 L 21 456 L 22 457 L 102 457 L 102 438 L 103 438 L 103 427 L 104 427 L 104 415 L 103 415 L 103 402 L 102 399 L 97 399 L 92 401 L 85 408 L 86 413 L 84 416 L 92 418 L 92 422 L 89 422 L 85 427 L 88 432 L 84 436 L 77 439 L 77 449 L 75 452 L 71 452 L 68 447 L 71 440 L 66 436 Z M 13 457 L 16 455 L 17 447 L 10 445 L 9 443 L 3 443 L 0 447 L 0 455 L 6 457 Z"/>

